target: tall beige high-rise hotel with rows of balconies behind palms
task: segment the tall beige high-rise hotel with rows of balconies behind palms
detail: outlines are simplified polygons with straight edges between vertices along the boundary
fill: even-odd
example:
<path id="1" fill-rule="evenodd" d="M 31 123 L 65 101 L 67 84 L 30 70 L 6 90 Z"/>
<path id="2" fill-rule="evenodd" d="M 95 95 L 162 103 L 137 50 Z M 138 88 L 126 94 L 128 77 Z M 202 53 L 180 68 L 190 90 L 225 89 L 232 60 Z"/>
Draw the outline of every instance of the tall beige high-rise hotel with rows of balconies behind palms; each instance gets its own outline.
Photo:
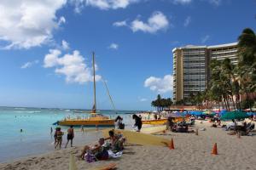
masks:
<path id="1" fill-rule="evenodd" d="M 237 43 L 214 46 L 188 45 L 174 48 L 173 53 L 173 101 L 186 99 L 189 94 L 202 92 L 210 81 L 211 59 L 229 58 L 237 64 Z"/>

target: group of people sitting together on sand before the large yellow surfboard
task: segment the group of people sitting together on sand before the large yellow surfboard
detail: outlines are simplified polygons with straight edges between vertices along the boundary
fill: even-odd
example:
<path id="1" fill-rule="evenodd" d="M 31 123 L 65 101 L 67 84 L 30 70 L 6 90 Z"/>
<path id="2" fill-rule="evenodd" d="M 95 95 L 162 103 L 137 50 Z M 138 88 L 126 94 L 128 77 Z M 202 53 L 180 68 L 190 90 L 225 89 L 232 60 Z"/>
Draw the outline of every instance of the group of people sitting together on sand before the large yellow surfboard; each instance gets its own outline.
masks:
<path id="1" fill-rule="evenodd" d="M 122 154 L 121 151 L 124 150 L 125 138 L 119 133 L 114 133 L 114 130 L 110 130 L 108 135 L 109 137 L 106 139 L 100 138 L 98 144 L 94 146 L 85 145 L 81 151 L 80 158 L 92 162 L 107 160 L 110 153 L 120 156 Z"/>

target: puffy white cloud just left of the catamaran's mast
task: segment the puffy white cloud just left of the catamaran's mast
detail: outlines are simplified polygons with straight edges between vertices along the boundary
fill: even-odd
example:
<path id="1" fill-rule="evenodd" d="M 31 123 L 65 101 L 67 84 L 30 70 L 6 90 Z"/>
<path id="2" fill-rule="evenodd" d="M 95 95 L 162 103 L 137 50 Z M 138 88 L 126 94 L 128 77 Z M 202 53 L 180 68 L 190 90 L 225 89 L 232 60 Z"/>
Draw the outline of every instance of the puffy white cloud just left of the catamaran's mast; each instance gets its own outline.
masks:
<path id="1" fill-rule="evenodd" d="M 64 75 L 66 82 L 92 82 L 92 68 L 84 63 L 84 57 L 78 50 L 74 50 L 73 54 L 64 54 L 58 49 L 50 49 L 49 54 L 44 56 L 44 67 L 54 67 L 55 73 Z M 97 66 L 96 66 L 97 69 Z M 96 75 L 96 81 L 101 80 L 101 76 Z"/>

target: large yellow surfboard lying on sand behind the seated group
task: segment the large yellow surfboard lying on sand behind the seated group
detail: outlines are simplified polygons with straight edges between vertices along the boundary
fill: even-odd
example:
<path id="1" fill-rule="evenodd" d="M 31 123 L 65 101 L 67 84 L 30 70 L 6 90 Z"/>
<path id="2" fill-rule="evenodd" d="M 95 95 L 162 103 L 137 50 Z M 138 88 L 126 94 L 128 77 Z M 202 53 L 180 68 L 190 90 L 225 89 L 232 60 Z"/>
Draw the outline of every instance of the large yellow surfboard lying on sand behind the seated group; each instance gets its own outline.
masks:
<path id="1" fill-rule="evenodd" d="M 108 131 L 111 129 L 102 130 L 104 138 L 108 138 Z M 128 130 L 115 129 L 115 133 L 121 133 L 124 135 L 126 141 L 131 144 L 141 144 L 141 145 L 158 145 L 158 146 L 168 146 L 170 140 L 164 139 L 159 136 L 154 136 L 152 134 L 137 133 Z"/>

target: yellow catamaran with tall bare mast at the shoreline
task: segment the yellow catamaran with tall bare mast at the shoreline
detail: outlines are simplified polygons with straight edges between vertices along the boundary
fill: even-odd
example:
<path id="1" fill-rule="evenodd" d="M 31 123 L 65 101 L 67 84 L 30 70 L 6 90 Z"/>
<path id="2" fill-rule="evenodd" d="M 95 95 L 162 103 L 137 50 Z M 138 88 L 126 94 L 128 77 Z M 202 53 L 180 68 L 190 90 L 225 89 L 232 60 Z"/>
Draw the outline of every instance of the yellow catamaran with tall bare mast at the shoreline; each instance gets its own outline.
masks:
<path id="1" fill-rule="evenodd" d="M 61 126 L 84 126 L 84 127 L 113 127 L 114 119 L 110 119 L 108 116 L 103 116 L 102 114 L 96 113 L 96 80 L 95 80 L 95 57 L 92 54 L 93 61 L 93 82 L 94 82 L 94 105 L 90 111 L 89 118 L 65 118 L 54 124 Z M 106 85 L 106 84 L 105 84 Z M 108 88 L 107 88 L 108 89 Z M 84 113 L 84 111 L 83 111 Z"/>

